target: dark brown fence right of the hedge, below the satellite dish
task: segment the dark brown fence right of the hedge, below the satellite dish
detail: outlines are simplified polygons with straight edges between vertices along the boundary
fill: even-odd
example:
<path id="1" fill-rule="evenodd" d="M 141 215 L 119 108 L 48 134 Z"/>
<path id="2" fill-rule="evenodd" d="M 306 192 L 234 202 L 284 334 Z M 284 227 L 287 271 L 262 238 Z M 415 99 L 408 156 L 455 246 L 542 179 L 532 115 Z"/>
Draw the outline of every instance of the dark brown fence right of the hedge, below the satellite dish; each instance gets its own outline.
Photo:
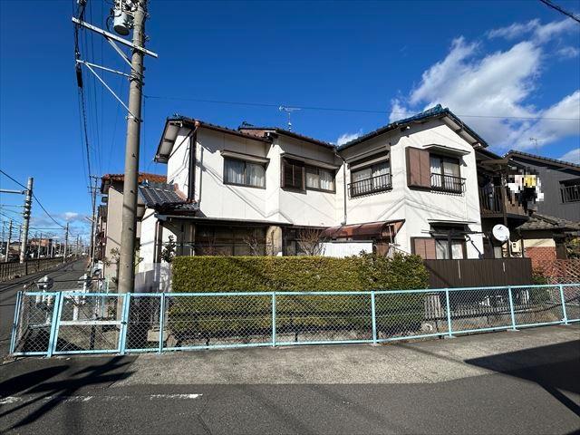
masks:
<path id="1" fill-rule="evenodd" d="M 528 285 L 532 281 L 530 258 L 424 260 L 430 288 Z"/>

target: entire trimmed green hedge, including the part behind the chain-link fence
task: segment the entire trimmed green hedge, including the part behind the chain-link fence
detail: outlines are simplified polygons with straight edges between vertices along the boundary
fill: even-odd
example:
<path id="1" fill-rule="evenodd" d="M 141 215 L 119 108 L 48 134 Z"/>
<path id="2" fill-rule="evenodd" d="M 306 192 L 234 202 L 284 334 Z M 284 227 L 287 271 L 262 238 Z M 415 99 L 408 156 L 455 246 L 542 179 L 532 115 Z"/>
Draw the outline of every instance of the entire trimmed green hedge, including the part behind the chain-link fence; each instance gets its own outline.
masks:
<path id="1" fill-rule="evenodd" d="M 179 256 L 173 260 L 173 292 L 368 291 L 425 288 L 428 273 L 418 256 Z M 380 330 L 416 327 L 422 319 L 420 295 L 376 298 Z M 176 333 L 206 337 L 267 333 L 271 298 L 175 298 L 169 326 Z M 295 296 L 276 299 L 276 329 L 371 331 L 368 295 Z"/>

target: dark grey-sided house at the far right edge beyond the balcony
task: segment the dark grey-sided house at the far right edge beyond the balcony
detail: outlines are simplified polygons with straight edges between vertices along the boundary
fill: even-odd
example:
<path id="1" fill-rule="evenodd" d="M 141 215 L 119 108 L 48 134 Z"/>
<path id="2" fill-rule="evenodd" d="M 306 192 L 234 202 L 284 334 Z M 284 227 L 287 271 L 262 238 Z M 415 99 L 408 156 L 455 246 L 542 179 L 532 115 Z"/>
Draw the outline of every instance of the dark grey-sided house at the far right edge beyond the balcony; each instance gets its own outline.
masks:
<path id="1" fill-rule="evenodd" d="M 580 222 L 580 165 L 514 150 L 506 157 L 539 176 L 544 200 L 537 203 L 537 213 Z"/>

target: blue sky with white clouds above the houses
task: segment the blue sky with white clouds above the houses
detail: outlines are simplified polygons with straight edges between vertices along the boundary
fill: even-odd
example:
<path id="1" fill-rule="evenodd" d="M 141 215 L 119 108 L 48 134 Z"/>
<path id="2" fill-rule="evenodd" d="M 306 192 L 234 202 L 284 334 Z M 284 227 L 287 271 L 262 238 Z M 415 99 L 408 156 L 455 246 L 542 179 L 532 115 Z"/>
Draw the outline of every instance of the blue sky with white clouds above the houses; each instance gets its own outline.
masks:
<path id="1" fill-rule="evenodd" d="M 88 0 L 87 21 L 105 28 L 107 2 Z M 0 1 L 0 169 L 24 184 L 34 177 L 44 208 L 83 235 L 89 173 L 123 171 L 126 113 L 84 70 L 89 171 L 75 3 Z M 556 3 L 580 14 L 578 0 Z M 340 144 L 440 103 L 490 150 L 580 163 L 580 24 L 539 1 L 152 0 L 149 12 L 147 46 L 159 58 L 145 60 L 141 171 L 165 173 L 152 159 L 175 113 L 284 127 L 280 105 L 302 108 L 294 131 Z M 127 72 L 101 36 L 82 31 L 80 41 L 82 59 Z M 101 75 L 126 101 L 127 81 Z M 4 175 L 0 187 L 18 189 Z M 6 206 L 22 202 L 0 194 L 1 220 L 20 220 Z M 56 227 L 36 203 L 32 225 Z"/>

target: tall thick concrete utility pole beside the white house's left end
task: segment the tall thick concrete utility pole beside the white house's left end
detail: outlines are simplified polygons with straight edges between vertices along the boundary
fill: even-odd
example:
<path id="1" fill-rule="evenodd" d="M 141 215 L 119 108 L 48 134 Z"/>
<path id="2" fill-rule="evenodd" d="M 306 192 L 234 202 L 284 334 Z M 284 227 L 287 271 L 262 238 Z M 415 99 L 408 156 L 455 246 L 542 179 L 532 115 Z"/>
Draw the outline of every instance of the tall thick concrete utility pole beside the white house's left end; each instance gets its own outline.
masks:
<path id="1" fill-rule="evenodd" d="M 144 48 L 147 0 L 137 2 L 133 17 L 133 46 Z M 125 178 L 123 182 L 123 208 L 121 255 L 119 257 L 119 293 L 129 293 L 135 288 L 135 239 L 137 237 L 137 189 L 139 177 L 139 146 L 141 124 L 141 92 L 143 87 L 144 53 L 133 48 L 131 56 L 131 87 L 125 144 Z"/>

